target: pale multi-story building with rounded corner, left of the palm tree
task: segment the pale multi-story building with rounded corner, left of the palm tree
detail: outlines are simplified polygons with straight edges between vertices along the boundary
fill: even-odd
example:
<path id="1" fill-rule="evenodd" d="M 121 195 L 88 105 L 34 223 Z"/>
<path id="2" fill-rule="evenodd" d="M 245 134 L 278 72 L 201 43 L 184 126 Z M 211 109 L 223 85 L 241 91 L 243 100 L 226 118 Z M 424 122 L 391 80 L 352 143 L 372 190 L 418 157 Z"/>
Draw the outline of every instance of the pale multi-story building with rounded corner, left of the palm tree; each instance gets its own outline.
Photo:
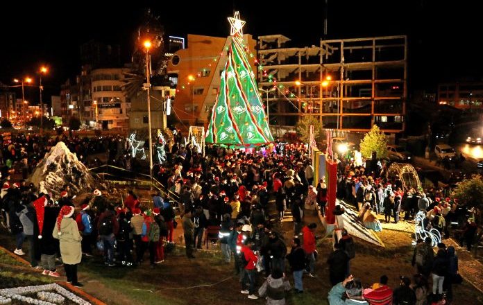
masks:
<path id="1" fill-rule="evenodd" d="M 94 69 L 92 76 L 92 121 L 100 128 L 128 128 L 130 99 L 122 92 L 126 68 Z"/>

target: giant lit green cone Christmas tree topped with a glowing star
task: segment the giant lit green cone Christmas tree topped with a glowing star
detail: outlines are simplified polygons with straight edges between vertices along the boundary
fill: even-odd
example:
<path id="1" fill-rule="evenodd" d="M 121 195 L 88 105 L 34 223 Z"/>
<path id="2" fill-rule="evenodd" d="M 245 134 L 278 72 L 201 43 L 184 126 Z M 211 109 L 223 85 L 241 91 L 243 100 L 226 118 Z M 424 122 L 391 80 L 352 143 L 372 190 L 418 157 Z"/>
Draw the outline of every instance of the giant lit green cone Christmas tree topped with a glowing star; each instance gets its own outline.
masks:
<path id="1" fill-rule="evenodd" d="M 232 43 L 205 141 L 238 147 L 270 143 L 273 137 L 243 42 L 245 21 L 239 19 L 239 12 L 228 21 Z"/>

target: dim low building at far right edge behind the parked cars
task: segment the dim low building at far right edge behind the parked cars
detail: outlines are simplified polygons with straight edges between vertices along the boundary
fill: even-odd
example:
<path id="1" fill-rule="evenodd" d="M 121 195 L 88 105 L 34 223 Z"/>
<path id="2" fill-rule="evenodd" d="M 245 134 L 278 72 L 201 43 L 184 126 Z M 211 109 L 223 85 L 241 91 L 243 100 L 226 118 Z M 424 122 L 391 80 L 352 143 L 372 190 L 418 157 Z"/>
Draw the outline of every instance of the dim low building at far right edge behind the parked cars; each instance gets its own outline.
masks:
<path id="1" fill-rule="evenodd" d="M 438 86 L 439 105 L 461 110 L 483 109 L 483 82 L 453 82 Z"/>

